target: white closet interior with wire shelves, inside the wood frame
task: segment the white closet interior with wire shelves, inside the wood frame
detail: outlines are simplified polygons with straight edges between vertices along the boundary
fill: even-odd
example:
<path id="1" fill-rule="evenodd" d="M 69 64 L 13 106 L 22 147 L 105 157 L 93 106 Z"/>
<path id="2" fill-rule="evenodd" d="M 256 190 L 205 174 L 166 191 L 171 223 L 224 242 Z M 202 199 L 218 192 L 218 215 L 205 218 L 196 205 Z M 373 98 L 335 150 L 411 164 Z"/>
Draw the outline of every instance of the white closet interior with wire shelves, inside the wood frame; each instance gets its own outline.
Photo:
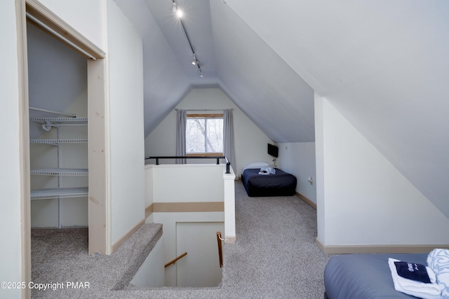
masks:
<path id="1" fill-rule="evenodd" d="M 86 57 L 31 22 L 27 43 L 31 225 L 87 227 Z"/>

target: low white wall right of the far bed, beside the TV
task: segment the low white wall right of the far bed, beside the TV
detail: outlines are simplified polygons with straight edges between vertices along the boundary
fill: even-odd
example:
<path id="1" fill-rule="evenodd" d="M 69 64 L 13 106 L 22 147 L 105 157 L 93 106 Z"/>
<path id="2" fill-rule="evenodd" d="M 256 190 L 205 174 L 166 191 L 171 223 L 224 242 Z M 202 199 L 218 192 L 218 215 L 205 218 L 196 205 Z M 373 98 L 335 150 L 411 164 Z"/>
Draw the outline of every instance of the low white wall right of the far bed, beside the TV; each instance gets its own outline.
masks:
<path id="1" fill-rule="evenodd" d="M 277 144 L 279 157 L 276 164 L 285 172 L 296 176 L 296 190 L 316 203 L 316 185 L 309 183 L 309 176 L 316 179 L 315 143 L 295 142 Z"/>

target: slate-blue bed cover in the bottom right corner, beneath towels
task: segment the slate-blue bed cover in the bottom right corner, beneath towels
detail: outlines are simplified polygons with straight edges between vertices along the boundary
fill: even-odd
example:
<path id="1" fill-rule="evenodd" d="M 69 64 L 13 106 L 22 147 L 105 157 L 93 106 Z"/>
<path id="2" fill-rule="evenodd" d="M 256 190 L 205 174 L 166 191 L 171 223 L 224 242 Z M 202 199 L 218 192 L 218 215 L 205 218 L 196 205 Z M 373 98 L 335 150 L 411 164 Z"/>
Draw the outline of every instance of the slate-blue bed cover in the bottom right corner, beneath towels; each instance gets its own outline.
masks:
<path id="1" fill-rule="evenodd" d="M 388 258 L 427 265 L 427 253 L 332 256 L 324 270 L 326 295 L 329 299 L 416 299 L 394 289 Z"/>

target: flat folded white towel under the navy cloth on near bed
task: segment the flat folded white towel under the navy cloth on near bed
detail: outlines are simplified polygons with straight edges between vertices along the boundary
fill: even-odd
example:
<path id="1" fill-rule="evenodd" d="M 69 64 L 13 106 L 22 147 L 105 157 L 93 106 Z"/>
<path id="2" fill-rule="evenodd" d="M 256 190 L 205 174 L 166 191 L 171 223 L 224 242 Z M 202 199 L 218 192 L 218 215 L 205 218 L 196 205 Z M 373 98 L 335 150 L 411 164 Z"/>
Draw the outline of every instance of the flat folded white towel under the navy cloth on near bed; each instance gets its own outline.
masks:
<path id="1" fill-rule="evenodd" d="M 429 267 L 426 267 L 427 274 L 429 274 L 430 281 L 434 282 L 426 284 L 421 281 L 414 281 L 399 276 L 396 271 L 396 265 L 394 265 L 394 262 L 399 261 L 400 260 L 394 258 L 388 259 L 388 265 L 390 267 L 391 277 L 393 278 L 394 289 L 396 291 L 423 299 L 441 299 L 441 287 L 436 284 L 435 274 Z"/>

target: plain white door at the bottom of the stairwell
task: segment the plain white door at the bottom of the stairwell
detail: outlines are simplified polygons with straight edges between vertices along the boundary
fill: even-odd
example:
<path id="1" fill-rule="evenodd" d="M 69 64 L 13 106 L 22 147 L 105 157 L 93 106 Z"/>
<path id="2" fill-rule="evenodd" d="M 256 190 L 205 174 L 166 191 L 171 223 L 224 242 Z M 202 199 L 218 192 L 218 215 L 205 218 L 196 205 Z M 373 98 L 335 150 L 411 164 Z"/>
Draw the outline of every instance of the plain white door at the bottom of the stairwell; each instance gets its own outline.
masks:
<path id="1" fill-rule="evenodd" d="M 176 262 L 177 286 L 218 286 L 222 268 L 218 256 L 217 232 L 224 235 L 223 222 L 176 223 L 177 256 L 187 256 Z"/>

